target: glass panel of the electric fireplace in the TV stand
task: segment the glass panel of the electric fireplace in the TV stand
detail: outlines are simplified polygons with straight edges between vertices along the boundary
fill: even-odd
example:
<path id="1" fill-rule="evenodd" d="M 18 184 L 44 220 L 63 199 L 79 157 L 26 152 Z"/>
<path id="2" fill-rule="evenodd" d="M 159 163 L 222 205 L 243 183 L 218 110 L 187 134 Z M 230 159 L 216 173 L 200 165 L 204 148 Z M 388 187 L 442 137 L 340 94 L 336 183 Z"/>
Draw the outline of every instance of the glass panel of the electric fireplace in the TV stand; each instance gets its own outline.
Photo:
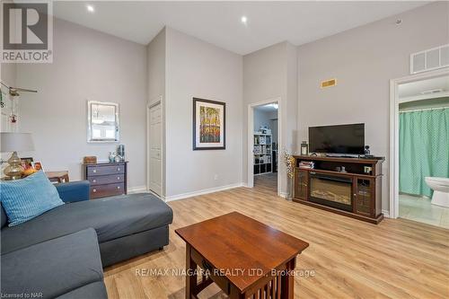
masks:
<path id="1" fill-rule="evenodd" d="M 311 178 L 310 195 L 313 198 L 351 206 L 351 183 L 313 177 Z"/>

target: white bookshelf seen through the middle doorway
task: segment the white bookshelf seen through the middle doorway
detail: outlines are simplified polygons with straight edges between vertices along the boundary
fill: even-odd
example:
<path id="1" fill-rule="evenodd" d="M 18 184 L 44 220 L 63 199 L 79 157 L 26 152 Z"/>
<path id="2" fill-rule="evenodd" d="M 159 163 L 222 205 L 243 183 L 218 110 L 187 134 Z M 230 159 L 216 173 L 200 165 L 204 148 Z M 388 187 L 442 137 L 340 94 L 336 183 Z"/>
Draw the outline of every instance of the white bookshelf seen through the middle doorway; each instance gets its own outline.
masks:
<path id="1" fill-rule="evenodd" d="M 271 134 L 254 133 L 254 175 L 272 171 L 272 142 Z"/>

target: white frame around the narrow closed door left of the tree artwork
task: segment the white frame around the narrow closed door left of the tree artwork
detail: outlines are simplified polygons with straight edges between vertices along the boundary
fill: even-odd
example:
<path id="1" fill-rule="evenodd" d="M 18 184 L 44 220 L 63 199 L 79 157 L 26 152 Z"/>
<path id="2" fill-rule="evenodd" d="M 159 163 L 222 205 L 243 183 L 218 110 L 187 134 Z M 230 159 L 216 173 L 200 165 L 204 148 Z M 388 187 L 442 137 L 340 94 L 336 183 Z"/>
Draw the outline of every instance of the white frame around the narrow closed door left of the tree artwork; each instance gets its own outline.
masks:
<path id="1" fill-rule="evenodd" d="M 150 142 L 150 126 L 151 126 L 151 109 L 154 108 L 157 105 L 161 105 L 161 137 L 162 137 L 162 142 L 161 142 L 161 194 L 157 194 L 155 193 L 152 189 L 150 189 L 150 159 L 151 159 L 151 142 Z M 146 104 L 146 130 L 145 130 L 145 134 L 146 134 L 146 190 L 148 192 L 153 193 L 155 196 L 157 196 L 158 198 L 164 199 L 165 197 L 165 190 L 164 190 L 164 185 L 165 185 L 165 176 L 163 173 L 163 159 L 165 156 L 165 152 L 164 152 L 164 146 L 163 146 L 163 119 L 164 119 L 164 115 L 163 115 L 163 96 L 160 95 L 156 98 L 153 99 L 153 101 L 148 101 L 148 103 Z"/>

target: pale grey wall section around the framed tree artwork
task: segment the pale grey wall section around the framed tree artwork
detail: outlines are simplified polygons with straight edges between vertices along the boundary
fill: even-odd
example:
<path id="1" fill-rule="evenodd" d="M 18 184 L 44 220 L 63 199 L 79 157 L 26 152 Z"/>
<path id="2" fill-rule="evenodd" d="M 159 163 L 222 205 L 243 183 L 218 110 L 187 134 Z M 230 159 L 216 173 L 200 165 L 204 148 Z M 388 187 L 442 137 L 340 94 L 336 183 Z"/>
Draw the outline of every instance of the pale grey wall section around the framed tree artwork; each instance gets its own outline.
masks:
<path id="1" fill-rule="evenodd" d="M 166 198 L 240 184 L 242 56 L 170 28 L 165 34 Z M 192 150 L 193 97 L 225 101 L 225 150 Z"/>

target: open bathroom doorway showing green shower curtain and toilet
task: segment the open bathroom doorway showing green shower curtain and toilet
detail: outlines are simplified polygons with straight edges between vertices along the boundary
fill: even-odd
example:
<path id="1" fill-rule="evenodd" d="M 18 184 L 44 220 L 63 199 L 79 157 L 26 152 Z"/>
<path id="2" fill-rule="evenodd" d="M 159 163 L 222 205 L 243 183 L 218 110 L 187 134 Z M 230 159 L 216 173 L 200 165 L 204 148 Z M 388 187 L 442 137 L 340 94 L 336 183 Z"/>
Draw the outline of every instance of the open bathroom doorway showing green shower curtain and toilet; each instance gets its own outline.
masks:
<path id="1" fill-rule="evenodd" d="M 449 228 L 449 75 L 397 92 L 398 216 Z"/>

